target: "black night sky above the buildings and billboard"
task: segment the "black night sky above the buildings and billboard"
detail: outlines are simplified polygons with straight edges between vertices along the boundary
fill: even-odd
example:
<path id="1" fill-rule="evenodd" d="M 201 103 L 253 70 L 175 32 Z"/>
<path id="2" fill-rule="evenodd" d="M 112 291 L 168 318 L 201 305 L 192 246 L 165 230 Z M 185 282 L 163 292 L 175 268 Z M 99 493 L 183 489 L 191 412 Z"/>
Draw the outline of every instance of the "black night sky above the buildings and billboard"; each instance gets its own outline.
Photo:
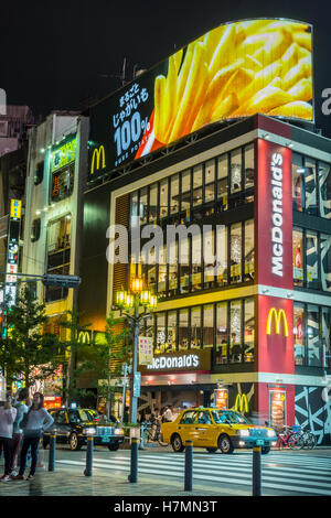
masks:
<path id="1" fill-rule="evenodd" d="M 331 88 L 330 0 L 33 0 L 3 2 L 0 25 L 0 87 L 8 104 L 35 115 L 76 110 L 86 99 L 120 86 L 114 77 L 127 60 L 150 68 L 195 37 L 226 21 L 289 18 L 314 28 L 316 121 L 331 138 L 322 90 Z M 331 104 L 330 104 L 331 107 Z"/>

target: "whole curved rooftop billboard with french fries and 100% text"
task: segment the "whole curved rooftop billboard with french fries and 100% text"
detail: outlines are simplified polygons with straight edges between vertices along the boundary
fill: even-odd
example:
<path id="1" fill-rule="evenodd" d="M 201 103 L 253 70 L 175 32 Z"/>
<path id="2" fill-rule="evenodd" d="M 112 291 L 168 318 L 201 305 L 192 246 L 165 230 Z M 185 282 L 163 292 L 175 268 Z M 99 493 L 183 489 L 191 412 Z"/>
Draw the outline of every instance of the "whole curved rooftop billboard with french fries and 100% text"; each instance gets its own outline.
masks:
<path id="1" fill-rule="evenodd" d="M 265 114 L 313 121 L 312 97 L 310 24 L 220 25 L 90 108 L 89 175 L 222 120 Z"/>

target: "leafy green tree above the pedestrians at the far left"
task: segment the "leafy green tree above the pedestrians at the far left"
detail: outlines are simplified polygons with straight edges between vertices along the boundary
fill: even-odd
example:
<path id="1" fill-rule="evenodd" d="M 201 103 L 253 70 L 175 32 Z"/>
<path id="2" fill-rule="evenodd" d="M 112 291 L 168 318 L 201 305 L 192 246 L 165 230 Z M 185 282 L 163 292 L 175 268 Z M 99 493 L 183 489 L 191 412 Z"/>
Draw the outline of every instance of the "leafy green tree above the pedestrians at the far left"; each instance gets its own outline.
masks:
<path id="1" fill-rule="evenodd" d="M 64 347 L 56 335 L 44 332 L 46 321 L 44 304 L 25 285 L 7 313 L 8 337 L 2 339 L 1 359 L 8 384 L 23 374 L 25 386 L 31 387 L 54 376 L 63 363 Z"/>

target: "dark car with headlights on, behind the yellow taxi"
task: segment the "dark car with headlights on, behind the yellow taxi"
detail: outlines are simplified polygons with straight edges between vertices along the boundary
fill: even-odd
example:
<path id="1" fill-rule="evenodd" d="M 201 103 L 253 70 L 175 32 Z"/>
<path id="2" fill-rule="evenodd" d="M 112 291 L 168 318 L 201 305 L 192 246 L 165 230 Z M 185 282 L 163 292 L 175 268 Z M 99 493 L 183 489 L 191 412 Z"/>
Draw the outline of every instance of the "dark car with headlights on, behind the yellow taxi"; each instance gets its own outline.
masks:
<path id="1" fill-rule="evenodd" d="M 77 451 L 87 443 L 87 436 L 94 436 L 96 445 L 107 445 L 111 452 L 119 449 L 124 442 L 124 429 L 118 422 L 100 422 L 94 410 L 85 408 L 50 409 L 54 419 L 53 425 L 43 434 L 43 444 L 50 444 L 51 433 L 56 433 L 56 442 L 68 444 Z M 116 418 L 115 418 L 116 419 Z"/>

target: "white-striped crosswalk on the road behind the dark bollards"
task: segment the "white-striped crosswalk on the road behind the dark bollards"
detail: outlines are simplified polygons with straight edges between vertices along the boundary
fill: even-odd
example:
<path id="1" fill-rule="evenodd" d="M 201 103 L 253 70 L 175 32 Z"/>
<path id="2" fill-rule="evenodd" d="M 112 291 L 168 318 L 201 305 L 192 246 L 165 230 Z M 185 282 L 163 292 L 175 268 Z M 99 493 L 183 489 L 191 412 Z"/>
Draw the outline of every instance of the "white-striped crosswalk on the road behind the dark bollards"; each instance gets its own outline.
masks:
<path id="1" fill-rule="evenodd" d="M 85 466 L 85 456 L 77 460 L 61 460 L 57 464 Z M 161 477 L 184 477 L 184 454 L 149 453 L 139 455 L 139 474 Z M 193 458 L 193 481 L 201 484 L 223 484 L 226 487 L 243 486 L 248 492 L 252 487 L 253 455 L 195 454 Z M 130 456 L 118 452 L 111 456 L 94 455 L 94 470 L 113 472 L 130 471 Z M 263 489 L 277 494 L 331 495 L 331 457 L 298 454 L 295 452 L 270 452 L 261 457 Z"/>

